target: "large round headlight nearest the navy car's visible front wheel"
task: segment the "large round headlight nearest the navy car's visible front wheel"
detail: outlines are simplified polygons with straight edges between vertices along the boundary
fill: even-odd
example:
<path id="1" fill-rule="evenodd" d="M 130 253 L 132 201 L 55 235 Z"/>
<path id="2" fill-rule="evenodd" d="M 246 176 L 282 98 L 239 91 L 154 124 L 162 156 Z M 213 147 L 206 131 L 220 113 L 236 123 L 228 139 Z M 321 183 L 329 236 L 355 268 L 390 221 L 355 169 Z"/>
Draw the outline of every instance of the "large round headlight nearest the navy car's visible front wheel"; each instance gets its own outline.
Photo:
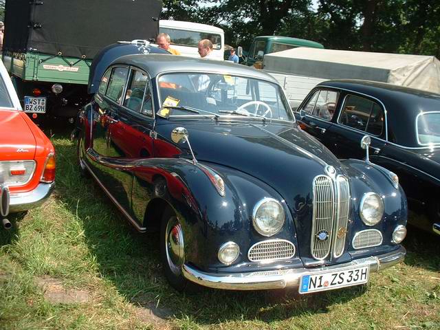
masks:
<path id="1" fill-rule="evenodd" d="M 252 214 L 254 228 L 263 236 L 272 236 L 279 232 L 283 227 L 284 219 L 283 206 L 273 198 L 259 201 Z"/>

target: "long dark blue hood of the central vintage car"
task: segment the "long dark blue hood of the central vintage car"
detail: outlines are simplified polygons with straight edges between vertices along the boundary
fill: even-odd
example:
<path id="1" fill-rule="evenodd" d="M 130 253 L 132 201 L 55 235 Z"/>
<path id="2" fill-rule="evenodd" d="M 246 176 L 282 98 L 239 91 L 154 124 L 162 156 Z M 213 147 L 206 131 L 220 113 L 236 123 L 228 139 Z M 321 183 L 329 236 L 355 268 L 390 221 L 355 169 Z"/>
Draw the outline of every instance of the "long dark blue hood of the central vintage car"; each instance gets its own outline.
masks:
<path id="1" fill-rule="evenodd" d="M 325 174 L 327 165 L 335 167 L 337 173 L 343 171 L 325 146 L 294 123 L 187 121 L 159 126 L 157 130 L 169 139 L 176 126 L 188 130 L 192 151 L 199 162 L 220 164 L 252 175 L 289 200 L 300 190 L 309 194 L 312 180 Z M 190 155 L 187 144 L 179 147 L 186 148 L 183 153 Z"/>

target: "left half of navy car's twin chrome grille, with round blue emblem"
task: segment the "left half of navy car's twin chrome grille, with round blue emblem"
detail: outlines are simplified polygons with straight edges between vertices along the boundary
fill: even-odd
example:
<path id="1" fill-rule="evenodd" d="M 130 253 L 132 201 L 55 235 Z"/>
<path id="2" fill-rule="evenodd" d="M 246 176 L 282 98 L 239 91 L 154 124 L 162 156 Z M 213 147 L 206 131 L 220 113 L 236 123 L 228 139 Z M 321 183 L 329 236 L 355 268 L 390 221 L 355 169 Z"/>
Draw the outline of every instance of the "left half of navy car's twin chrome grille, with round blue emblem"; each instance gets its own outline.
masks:
<path id="1" fill-rule="evenodd" d="M 330 253 L 333 233 L 335 194 L 331 179 L 319 175 L 313 183 L 313 219 L 311 230 L 311 254 L 315 259 L 325 259 Z M 324 241 L 318 239 L 318 233 L 325 230 L 329 237 Z"/>

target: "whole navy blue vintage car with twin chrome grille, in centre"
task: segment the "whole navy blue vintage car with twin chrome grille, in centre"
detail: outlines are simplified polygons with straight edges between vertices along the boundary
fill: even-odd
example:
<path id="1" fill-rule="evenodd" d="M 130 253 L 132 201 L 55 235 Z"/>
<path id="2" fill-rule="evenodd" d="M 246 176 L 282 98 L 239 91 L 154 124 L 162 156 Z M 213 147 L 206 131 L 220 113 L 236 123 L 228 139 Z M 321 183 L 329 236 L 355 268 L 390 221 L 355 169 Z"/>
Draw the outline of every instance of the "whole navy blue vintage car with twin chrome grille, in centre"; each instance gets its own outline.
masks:
<path id="1" fill-rule="evenodd" d="M 137 230 L 159 232 L 176 289 L 307 294 L 404 259 L 397 177 L 339 161 L 299 129 L 267 74 L 139 54 L 108 63 L 96 88 L 80 113 L 80 169 Z"/>

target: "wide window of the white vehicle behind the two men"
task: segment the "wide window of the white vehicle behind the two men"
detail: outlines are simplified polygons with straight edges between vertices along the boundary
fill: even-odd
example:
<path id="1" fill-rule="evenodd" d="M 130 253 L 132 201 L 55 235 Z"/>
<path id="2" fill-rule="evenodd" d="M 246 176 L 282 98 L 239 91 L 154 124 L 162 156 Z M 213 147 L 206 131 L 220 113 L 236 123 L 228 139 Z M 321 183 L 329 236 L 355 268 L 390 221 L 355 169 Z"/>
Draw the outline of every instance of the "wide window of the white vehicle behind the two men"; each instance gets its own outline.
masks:
<path id="1" fill-rule="evenodd" d="M 177 30 L 171 28 L 160 28 L 161 33 L 170 36 L 171 44 L 178 46 L 197 47 L 199 41 L 208 39 L 212 42 L 214 50 L 221 49 L 221 35 L 208 32 Z"/>

